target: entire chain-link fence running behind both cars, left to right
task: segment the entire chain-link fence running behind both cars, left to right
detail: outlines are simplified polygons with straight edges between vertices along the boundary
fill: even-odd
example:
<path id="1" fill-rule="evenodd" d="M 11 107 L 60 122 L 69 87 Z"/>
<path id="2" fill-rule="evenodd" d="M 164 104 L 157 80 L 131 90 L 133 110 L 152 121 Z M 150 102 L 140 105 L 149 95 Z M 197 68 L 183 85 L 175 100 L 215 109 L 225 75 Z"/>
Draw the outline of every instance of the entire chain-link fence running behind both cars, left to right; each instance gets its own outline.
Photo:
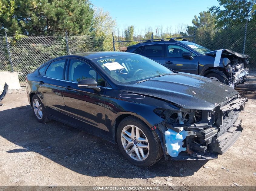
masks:
<path id="1" fill-rule="evenodd" d="M 175 34 L 171 37 L 180 36 Z M 127 46 L 146 41 L 142 37 L 134 37 L 134 41 L 115 41 L 114 36 L 112 41 L 111 38 L 71 34 L 61 36 L 0 33 L 0 75 L 2 72 L 17 72 L 20 84 L 25 85 L 25 77 L 29 72 L 55 57 L 109 51 L 113 45 L 116 51 L 125 51 Z M 240 24 L 210 32 L 196 29 L 193 36 L 184 38 L 210 50 L 231 49 L 238 53 L 244 51 L 250 56 L 250 68 L 256 68 L 256 21 L 248 21 L 247 26 Z"/>

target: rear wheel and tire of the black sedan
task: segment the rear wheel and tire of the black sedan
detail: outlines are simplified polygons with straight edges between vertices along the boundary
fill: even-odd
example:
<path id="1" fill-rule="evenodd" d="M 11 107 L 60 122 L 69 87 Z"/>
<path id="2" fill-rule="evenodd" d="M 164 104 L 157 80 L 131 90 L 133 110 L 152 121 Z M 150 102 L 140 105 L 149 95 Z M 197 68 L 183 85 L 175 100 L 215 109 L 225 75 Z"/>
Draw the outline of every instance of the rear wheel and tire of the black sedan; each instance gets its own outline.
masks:
<path id="1" fill-rule="evenodd" d="M 34 116 L 39 123 L 47 123 L 52 119 L 48 118 L 45 106 L 37 95 L 34 95 L 31 100 L 31 107 L 34 111 Z"/>

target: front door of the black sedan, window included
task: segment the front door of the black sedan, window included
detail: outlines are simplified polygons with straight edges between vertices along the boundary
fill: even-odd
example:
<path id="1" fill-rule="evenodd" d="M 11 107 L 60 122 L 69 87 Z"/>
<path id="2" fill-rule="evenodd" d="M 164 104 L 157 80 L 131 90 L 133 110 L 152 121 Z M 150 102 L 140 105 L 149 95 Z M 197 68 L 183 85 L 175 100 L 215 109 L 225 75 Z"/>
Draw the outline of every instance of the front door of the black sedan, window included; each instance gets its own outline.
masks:
<path id="1" fill-rule="evenodd" d="M 86 78 L 95 79 L 101 91 L 78 87 L 77 82 Z M 65 108 L 74 119 L 72 123 L 89 130 L 91 127 L 105 130 L 106 88 L 101 76 L 85 61 L 69 59 L 64 86 Z"/>

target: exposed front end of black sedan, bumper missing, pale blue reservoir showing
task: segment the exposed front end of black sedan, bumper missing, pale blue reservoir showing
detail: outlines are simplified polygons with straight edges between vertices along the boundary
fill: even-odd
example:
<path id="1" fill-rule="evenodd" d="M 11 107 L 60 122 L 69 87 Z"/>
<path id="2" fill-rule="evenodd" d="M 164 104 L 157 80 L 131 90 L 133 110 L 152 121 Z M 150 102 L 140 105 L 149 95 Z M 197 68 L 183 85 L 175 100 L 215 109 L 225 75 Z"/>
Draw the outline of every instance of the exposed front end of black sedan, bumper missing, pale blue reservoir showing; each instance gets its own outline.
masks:
<path id="1" fill-rule="evenodd" d="M 169 155 L 172 160 L 210 160 L 223 154 L 241 134 L 238 115 L 247 101 L 237 94 L 211 111 L 155 110 L 166 119 L 155 129 L 162 141 L 165 158 Z"/>

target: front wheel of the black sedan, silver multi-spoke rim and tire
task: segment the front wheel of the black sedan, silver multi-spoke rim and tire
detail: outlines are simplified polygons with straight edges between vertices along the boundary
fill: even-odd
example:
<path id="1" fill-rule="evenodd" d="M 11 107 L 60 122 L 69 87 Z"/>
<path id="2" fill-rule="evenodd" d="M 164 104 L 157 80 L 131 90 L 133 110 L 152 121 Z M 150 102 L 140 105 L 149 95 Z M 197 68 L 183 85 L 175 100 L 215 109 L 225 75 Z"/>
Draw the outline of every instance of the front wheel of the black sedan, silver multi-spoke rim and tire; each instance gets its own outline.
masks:
<path id="1" fill-rule="evenodd" d="M 129 116 L 117 128 L 117 143 L 123 156 L 139 167 L 149 167 L 162 156 L 160 140 L 140 119 Z"/>

